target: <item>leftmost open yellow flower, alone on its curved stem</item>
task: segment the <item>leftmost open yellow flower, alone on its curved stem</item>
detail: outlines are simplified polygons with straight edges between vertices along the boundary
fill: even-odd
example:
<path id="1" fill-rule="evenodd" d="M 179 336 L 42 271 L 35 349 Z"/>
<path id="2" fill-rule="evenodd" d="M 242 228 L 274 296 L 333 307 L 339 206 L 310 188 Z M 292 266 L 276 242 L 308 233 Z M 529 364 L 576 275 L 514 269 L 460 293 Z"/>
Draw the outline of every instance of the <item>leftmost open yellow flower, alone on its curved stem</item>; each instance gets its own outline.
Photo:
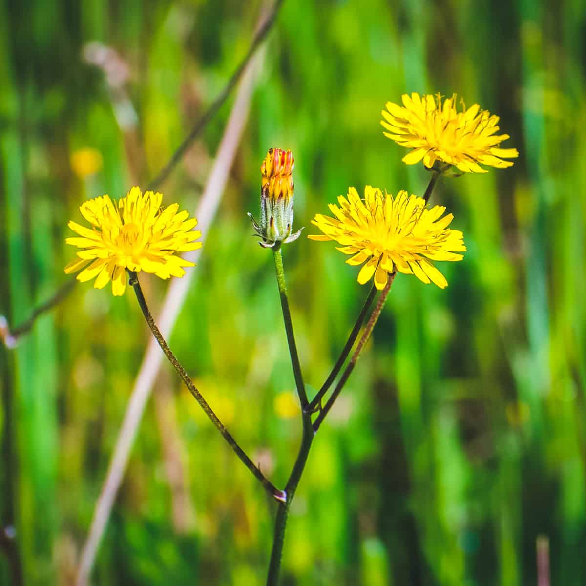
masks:
<path id="1" fill-rule="evenodd" d="M 177 213 L 179 205 L 161 208 L 161 193 L 147 191 L 144 195 L 133 187 L 119 202 L 109 196 L 90 199 L 80 206 L 81 215 L 91 229 L 69 222 L 71 230 L 80 235 L 66 239 L 77 246 L 79 259 L 65 267 L 67 274 L 86 266 L 77 275 L 79 281 L 96 277 L 94 287 L 101 289 L 112 281 L 114 295 L 122 295 L 126 288 L 125 271 L 151 272 L 157 277 L 183 277 L 182 267 L 193 267 L 175 253 L 196 250 L 202 246 L 194 242 L 202 233 L 192 231 L 197 220 L 188 220 L 188 212 Z M 90 263 L 91 261 L 91 263 Z"/>

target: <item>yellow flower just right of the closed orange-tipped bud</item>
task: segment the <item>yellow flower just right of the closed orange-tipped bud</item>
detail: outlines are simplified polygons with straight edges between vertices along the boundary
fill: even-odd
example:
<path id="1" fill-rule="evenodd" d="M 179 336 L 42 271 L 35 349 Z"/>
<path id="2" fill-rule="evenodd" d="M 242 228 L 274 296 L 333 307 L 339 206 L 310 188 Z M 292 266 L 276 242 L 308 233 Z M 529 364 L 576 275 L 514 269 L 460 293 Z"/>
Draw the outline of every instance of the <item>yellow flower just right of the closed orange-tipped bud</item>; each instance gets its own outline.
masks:
<path id="1" fill-rule="evenodd" d="M 444 206 L 425 207 L 422 197 L 400 191 L 393 199 L 380 189 L 366 186 L 364 199 L 351 187 L 346 197 L 338 197 L 340 207 L 330 204 L 335 217 L 317 214 L 312 224 L 322 232 L 310 235 L 312 240 L 336 240 L 338 250 L 352 254 L 346 263 L 363 264 L 358 274 L 361 285 L 374 275 L 374 285 L 383 289 L 390 273 L 397 270 L 414 274 L 424 283 L 434 282 L 442 289 L 448 282 L 430 262 L 462 260 L 466 250 L 462 233 L 447 226 L 454 216 Z"/>

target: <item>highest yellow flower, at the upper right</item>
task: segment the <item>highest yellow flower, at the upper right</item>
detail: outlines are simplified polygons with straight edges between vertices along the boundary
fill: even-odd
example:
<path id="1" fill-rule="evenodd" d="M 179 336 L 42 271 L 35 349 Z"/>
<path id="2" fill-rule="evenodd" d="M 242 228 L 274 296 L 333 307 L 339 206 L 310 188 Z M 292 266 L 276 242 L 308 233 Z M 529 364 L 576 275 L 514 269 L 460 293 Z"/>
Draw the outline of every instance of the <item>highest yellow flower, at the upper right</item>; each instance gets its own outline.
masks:
<path id="1" fill-rule="evenodd" d="M 462 112 L 456 111 L 456 94 L 444 100 L 441 95 L 420 96 L 403 94 L 401 107 L 387 102 L 387 111 L 381 114 L 385 120 L 380 123 L 389 132 L 383 134 L 403 147 L 413 148 L 403 157 L 407 165 L 423 159 L 424 165 L 431 169 L 436 160 L 455 165 L 460 171 L 486 173 L 478 163 L 505 169 L 512 159 L 519 156 L 514 148 L 499 148 L 500 142 L 509 138 L 508 134 L 495 134 L 499 117 L 490 115 L 488 110 L 480 110 L 473 104 L 466 110 L 462 102 Z"/>

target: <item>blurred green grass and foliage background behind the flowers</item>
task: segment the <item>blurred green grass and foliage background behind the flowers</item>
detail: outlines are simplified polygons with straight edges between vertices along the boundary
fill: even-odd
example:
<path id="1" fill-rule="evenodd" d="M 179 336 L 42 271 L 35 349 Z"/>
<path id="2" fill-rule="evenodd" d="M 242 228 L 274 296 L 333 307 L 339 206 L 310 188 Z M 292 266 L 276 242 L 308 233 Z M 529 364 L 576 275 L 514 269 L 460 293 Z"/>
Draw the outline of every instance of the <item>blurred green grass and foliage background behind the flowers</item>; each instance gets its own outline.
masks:
<path id="1" fill-rule="evenodd" d="M 156 175 L 246 53 L 259 11 L 236 0 L 0 1 L 0 313 L 10 323 L 66 279 L 80 203 Z M 267 149 L 294 152 L 305 233 L 349 185 L 423 193 L 428 173 L 401 163 L 406 151 L 379 125 L 384 103 L 406 91 L 478 102 L 500 115 L 512 136 L 503 147 L 520 158 L 438 182 L 434 202 L 454 213 L 468 252 L 442 265 L 443 291 L 403 275 L 393 285 L 314 442 L 283 584 L 536 584 L 539 536 L 551 583 L 584 583 L 585 26 L 581 0 L 285 2 L 170 340 L 277 486 L 301 422 L 275 403 L 294 381 L 271 254 L 246 217 Z M 121 90 L 84 60 L 93 41 L 128 68 Z M 195 210 L 232 101 L 163 201 Z M 81 179 L 70 156 L 85 147 L 103 166 Z M 319 388 L 367 289 L 333 244 L 302 237 L 284 257 L 305 379 Z M 167 284 L 141 281 L 156 314 Z M 0 523 L 16 527 L 26 584 L 71 583 L 148 339 L 131 292 L 86 284 L 0 351 Z M 274 510 L 165 367 L 93 581 L 263 584 Z"/>

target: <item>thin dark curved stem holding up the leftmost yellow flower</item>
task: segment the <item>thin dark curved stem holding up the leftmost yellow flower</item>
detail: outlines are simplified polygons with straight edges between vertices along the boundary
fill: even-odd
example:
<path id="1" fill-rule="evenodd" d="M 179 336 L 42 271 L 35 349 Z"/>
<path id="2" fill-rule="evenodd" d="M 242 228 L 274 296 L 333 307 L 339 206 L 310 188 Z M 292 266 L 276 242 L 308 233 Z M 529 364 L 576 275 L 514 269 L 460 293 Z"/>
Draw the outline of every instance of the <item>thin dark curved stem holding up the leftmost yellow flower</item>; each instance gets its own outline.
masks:
<path id="1" fill-rule="evenodd" d="M 236 440 L 230 435 L 230 432 L 224 427 L 222 421 L 219 420 L 217 415 L 213 412 L 212 407 L 210 407 L 205 398 L 203 398 L 202 394 L 197 390 L 195 384 L 190 379 L 189 374 L 180 364 L 179 360 L 173 354 L 171 348 L 169 347 L 168 343 L 163 338 L 163 335 L 159 328 L 157 327 L 155 320 L 152 317 L 151 311 L 148 308 L 147 301 L 142 294 L 141 285 L 138 282 L 137 274 L 133 271 L 128 271 L 130 275 L 130 284 L 134 288 L 134 292 L 138 299 L 138 305 L 140 305 L 142 310 L 142 315 L 145 316 L 147 320 L 149 328 L 151 328 L 152 334 L 155 336 L 156 341 L 161 346 L 161 349 L 165 353 L 165 356 L 171 362 L 173 368 L 176 370 L 177 374 L 179 374 L 180 379 L 185 383 L 185 386 L 189 389 L 189 392 L 195 397 L 199 406 L 205 411 L 207 417 L 210 418 L 212 423 L 216 426 L 217 430 L 222 434 L 224 440 L 228 442 L 230 447 L 234 450 L 236 455 L 240 458 L 243 464 L 254 474 L 254 476 L 261 482 L 264 486 L 265 490 L 275 499 L 280 500 L 281 502 L 285 500 L 285 493 L 282 490 L 276 488 L 272 483 L 266 478 L 266 476 L 260 471 L 258 466 L 254 464 L 254 462 L 248 458 L 246 452 L 237 444 Z"/>

